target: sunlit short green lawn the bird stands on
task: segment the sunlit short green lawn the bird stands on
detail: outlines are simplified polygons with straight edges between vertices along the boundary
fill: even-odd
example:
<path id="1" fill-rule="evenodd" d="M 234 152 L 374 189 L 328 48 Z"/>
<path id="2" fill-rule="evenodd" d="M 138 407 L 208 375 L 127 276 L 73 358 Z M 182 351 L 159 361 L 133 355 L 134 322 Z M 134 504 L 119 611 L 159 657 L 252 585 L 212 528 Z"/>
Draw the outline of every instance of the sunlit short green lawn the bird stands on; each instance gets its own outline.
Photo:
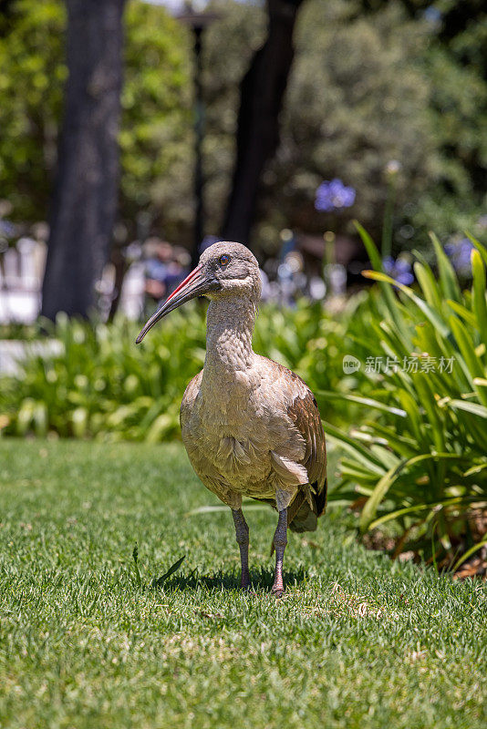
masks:
<path id="1" fill-rule="evenodd" d="M 485 587 L 249 510 L 256 594 L 180 445 L 0 442 L 0 726 L 487 725 Z M 139 545 L 141 584 L 132 550 Z M 151 580 L 186 554 L 160 589 Z"/>

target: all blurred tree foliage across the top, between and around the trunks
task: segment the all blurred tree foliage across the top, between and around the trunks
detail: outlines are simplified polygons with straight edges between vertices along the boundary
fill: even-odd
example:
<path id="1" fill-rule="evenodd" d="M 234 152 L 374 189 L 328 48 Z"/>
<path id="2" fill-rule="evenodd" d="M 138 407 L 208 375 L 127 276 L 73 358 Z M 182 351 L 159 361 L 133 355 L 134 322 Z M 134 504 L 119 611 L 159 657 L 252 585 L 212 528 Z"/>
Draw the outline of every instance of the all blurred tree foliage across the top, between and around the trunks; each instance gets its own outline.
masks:
<path id="1" fill-rule="evenodd" d="M 46 219 L 62 114 L 65 6 L 12 0 L 0 27 L 0 190 L 16 221 Z M 213 0 L 204 42 L 207 228 L 220 229 L 233 169 L 239 83 L 264 39 L 264 8 Z M 161 5 L 127 4 L 116 239 L 147 229 L 173 241 L 192 230 L 192 37 Z M 6 22 L 6 21 L 5 21 Z M 310 0 L 295 33 L 282 141 L 264 175 L 254 247 L 271 251 L 282 227 L 351 230 L 348 213 L 313 207 L 316 185 L 338 176 L 357 189 L 349 212 L 378 233 L 398 159 L 395 242 L 413 228 L 443 236 L 482 210 L 487 91 L 478 48 L 484 24 L 439 45 L 434 27 L 398 3 L 372 15 L 357 0 Z M 224 47 L 224 52 L 223 52 Z M 477 54 L 477 55 L 476 55 Z M 471 63 L 463 64 L 463 57 Z M 472 171 L 473 170 L 473 171 Z M 477 180 L 477 181 L 475 181 Z M 479 182 L 480 180 L 480 182 Z M 418 241 L 418 236 L 415 236 Z"/>

